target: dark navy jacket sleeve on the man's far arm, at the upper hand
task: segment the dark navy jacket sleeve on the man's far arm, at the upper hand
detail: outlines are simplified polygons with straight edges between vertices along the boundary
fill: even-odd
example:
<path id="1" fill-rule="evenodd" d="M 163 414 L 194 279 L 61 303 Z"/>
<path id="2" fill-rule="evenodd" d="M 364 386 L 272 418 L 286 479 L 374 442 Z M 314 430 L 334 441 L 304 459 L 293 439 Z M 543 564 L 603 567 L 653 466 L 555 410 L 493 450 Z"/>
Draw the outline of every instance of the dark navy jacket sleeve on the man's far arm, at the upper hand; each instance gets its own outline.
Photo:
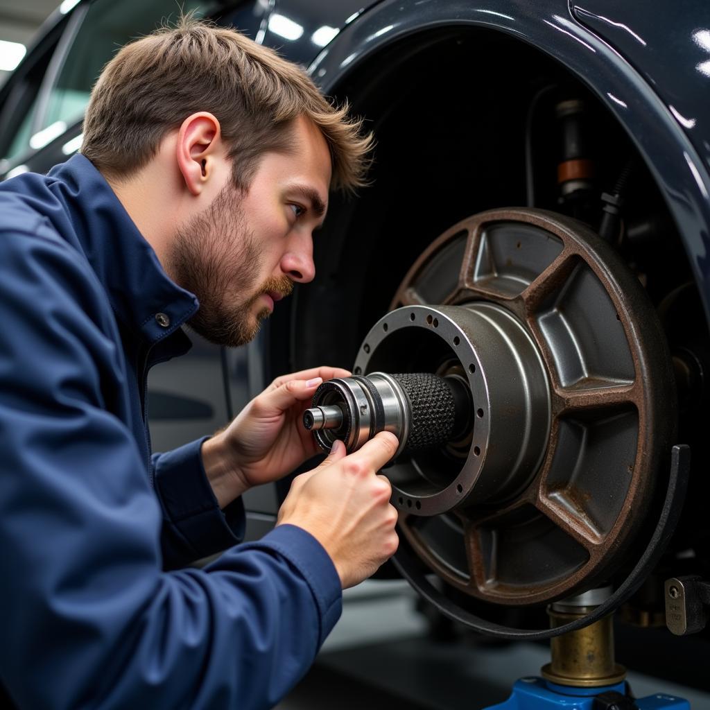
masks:
<path id="1" fill-rule="evenodd" d="M 163 510 L 160 547 L 163 568 L 177 569 L 244 540 L 241 498 L 219 508 L 202 465 L 197 439 L 164 454 L 153 454 L 153 485 Z"/>

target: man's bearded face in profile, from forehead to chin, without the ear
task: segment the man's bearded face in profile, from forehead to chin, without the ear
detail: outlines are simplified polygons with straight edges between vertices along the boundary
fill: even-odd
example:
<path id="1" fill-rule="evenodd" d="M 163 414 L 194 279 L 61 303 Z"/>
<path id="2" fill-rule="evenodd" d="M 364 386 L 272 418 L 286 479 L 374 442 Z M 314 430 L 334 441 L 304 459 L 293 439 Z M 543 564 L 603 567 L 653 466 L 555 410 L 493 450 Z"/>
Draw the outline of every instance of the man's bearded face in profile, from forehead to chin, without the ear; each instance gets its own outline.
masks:
<path id="1" fill-rule="evenodd" d="M 230 179 L 207 209 L 180 225 L 167 267 L 200 300 L 190 319 L 197 333 L 243 345 L 294 282 L 313 279 L 312 231 L 324 219 L 330 177 L 325 139 L 297 119 L 293 150 L 265 153 L 246 194 Z"/>

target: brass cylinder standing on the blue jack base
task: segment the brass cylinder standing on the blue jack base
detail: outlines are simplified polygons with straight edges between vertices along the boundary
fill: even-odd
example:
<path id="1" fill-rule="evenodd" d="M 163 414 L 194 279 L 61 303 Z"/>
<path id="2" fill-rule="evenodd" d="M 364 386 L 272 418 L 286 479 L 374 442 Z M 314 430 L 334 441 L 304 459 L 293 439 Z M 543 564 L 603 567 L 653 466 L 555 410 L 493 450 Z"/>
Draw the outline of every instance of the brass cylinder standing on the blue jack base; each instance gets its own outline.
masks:
<path id="1" fill-rule="evenodd" d="M 585 608 L 557 611 L 548 608 L 552 628 L 585 616 Z M 555 636 L 550 641 L 552 663 L 542 667 L 542 677 L 559 685 L 601 687 L 620 683 L 626 668 L 614 662 L 614 631 L 609 614 L 599 621 Z"/>

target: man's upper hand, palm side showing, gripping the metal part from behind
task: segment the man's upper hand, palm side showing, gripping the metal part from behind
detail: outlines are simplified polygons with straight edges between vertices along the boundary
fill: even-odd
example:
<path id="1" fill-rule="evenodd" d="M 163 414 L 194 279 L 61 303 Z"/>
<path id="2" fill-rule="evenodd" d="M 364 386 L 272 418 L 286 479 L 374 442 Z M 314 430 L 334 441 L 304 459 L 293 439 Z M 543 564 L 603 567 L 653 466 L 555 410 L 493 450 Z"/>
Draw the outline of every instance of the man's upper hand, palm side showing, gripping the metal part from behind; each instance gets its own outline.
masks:
<path id="1" fill-rule="evenodd" d="M 251 486 L 283 478 L 320 449 L 302 424 L 320 383 L 349 377 L 318 367 L 276 378 L 219 434 L 202 444 L 202 461 L 219 506 Z"/>

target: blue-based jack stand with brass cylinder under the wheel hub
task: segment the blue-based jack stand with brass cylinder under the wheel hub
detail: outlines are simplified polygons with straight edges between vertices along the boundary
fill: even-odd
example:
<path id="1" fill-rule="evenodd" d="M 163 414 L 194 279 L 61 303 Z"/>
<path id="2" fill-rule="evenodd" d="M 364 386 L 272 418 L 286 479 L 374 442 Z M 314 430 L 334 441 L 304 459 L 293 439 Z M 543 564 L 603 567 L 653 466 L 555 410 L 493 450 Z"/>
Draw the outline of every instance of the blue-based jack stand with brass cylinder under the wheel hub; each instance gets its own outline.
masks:
<path id="1" fill-rule="evenodd" d="M 591 589 L 548 608 L 552 627 L 586 616 L 611 590 Z M 505 702 L 488 710 L 690 710 L 687 700 L 667 694 L 634 699 L 624 678 L 626 668 L 614 662 L 611 614 L 550 641 L 552 662 L 542 678 L 521 678 Z"/>

